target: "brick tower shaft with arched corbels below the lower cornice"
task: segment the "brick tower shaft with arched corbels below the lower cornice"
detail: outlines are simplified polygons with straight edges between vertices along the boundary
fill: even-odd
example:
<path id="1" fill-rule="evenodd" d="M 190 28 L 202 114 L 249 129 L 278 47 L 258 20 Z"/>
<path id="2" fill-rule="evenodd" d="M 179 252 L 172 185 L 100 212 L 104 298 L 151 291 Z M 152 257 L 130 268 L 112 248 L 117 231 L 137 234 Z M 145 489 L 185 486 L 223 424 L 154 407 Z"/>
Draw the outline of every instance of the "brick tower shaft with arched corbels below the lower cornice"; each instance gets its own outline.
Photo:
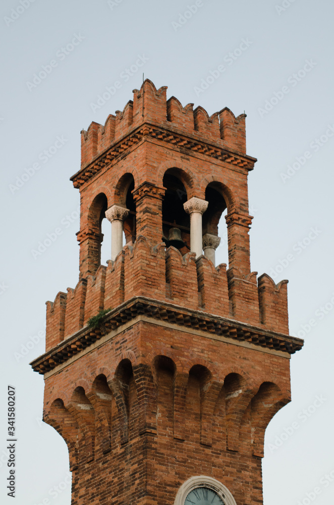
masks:
<path id="1" fill-rule="evenodd" d="M 264 428 L 289 400 L 289 359 L 138 322 L 46 378 L 44 417 L 66 433 L 73 505 L 172 504 L 203 474 L 239 505 L 262 500 Z"/>

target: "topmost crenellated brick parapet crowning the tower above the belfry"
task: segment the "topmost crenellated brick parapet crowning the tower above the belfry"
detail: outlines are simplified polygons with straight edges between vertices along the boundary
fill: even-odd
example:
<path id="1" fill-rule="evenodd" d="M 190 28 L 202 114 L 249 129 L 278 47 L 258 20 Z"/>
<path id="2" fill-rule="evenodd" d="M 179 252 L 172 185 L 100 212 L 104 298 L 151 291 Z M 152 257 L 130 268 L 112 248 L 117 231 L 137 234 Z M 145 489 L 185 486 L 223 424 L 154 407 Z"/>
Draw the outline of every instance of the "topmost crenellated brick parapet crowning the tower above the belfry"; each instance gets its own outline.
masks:
<path id="1" fill-rule="evenodd" d="M 87 131 L 81 131 L 81 168 L 88 166 L 107 150 L 117 148 L 117 142 L 126 139 L 132 132 L 139 134 L 140 127 L 147 125 L 161 125 L 164 131 L 182 131 L 190 136 L 201 137 L 204 141 L 213 142 L 220 148 L 246 153 L 246 114 L 237 118 L 225 108 L 220 112 L 208 115 L 203 107 L 193 110 L 193 104 L 185 107 L 175 96 L 166 99 L 166 86 L 156 89 L 153 82 L 146 79 L 140 90 L 133 90 L 133 100 L 124 107 L 123 111 L 116 111 L 116 116 L 110 114 L 104 125 L 92 122 Z M 121 144 L 119 148 L 126 149 L 136 139 Z M 91 166 L 90 170 L 97 168 Z"/>

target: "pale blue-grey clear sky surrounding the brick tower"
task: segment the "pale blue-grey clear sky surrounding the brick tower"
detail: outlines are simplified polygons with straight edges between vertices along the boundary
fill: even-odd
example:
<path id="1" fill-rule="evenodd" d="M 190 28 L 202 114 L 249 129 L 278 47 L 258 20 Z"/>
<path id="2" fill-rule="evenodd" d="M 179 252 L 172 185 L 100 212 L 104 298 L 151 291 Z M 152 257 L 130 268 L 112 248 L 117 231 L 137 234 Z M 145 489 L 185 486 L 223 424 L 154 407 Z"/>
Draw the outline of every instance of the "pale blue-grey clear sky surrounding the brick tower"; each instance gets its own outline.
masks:
<path id="1" fill-rule="evenodd" d="M 70 503 L 67 447 L 40 422 L 43 379 L 29 362 L 45 348 L 45 301 L 78 280 L 79 191 L 69 178 L 80 169 L 80 130 L 123 110 L 144 72 L 183 105 L 247 114 L 247 153 L 258 159 L 249 174 L 252 270 L 289 279 L 290 332 L 305 338 L 291 360 L 292 402 L 266 431 L 264 504 L 332 503 L 332 2 L 3 0 L 0 11 L 1 502 L 13 503 L 4 463 L 12 384 L 15 503 Z M 114 94 L 104 99 L 106 88 Z M 225 229 L 218 263 L 227 261 Z"/>

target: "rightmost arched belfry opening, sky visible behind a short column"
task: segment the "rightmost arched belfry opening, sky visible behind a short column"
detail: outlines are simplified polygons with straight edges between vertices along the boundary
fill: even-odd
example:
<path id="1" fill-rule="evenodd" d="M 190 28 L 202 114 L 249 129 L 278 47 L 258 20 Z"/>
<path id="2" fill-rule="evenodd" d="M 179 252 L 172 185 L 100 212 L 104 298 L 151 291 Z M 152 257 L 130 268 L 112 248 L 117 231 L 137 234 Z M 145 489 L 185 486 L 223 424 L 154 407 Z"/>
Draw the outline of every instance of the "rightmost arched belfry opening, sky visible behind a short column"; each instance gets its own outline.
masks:
<path id="1" fill-rule="evenodd" d="M 228 264 L 228 234 L 225 221 L 228 206 L 221 184 L 218 182 L 208 184 L 205 189 L 205 199 L 208 201 L 208 207 L 203 214 L 204 254 L 212 261 L 215 257 L 216 265 Z M 219 237 L 220 242 L 215 237 Z"/>

